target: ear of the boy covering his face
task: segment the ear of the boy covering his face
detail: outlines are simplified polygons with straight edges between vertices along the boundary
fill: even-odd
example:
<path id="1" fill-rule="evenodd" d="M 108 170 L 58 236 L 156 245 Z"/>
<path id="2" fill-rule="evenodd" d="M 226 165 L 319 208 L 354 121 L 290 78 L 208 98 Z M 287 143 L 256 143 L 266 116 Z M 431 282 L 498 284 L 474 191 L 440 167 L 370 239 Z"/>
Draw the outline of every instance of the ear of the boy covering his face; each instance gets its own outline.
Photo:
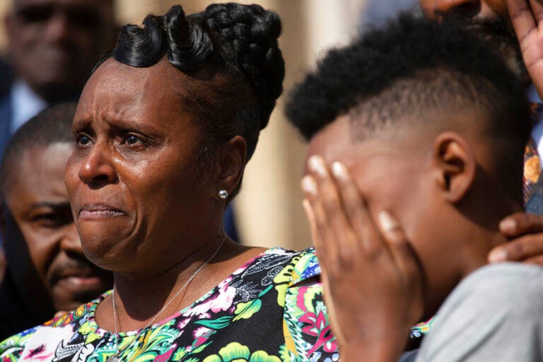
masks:
<path id="1" fill-rule="evenodd" d="M 439 134 L 433 144 L 433 161 L 440 189 L 452 204 L 460 202 L 474 182 L 477 162 L 467 141 L 454 132 Z"/>

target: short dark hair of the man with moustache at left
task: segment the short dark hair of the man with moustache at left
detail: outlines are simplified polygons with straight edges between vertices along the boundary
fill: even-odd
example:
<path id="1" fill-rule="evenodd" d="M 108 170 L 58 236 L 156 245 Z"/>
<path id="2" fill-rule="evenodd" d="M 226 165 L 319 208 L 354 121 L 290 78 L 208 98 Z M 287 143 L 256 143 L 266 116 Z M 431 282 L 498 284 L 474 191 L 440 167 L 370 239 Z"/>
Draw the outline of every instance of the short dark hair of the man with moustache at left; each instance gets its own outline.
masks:
<path id="1" fill-rule="evenodd" d="M 0 165 L 0 202 L 5 200 L 11 175 L 18 171 L 18 161 L 23 153 L 34 147 L 74 142 L 71 124 L 74 122 L 77 103 L 57 103 L 30 118 L 11 136 Z"/>

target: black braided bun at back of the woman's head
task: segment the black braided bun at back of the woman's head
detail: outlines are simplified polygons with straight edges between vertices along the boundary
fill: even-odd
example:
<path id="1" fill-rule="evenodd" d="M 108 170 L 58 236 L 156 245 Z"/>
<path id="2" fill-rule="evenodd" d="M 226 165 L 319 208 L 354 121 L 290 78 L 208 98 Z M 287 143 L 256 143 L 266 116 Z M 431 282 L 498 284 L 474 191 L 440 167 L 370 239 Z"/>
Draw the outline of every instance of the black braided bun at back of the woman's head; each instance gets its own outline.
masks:
<path id="1" fill-rule="evenodd" d="M 201 13 L 205 25 L 218 35 L 224 56 L 240 69 L 260 106 L 259 128 L 267 126 L 276 99 L 283 91 L 285 64 L 277 38 L 281 20 L 259 5 L 213 4 Z"/>

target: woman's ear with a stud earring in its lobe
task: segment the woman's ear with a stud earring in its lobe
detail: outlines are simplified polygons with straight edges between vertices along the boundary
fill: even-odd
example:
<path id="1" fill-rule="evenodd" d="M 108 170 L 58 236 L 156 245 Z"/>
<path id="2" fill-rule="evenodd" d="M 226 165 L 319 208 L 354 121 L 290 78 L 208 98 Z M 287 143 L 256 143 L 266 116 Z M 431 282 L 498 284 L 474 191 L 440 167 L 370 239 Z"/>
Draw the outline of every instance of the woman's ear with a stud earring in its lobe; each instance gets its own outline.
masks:
<path id="1" fill-rule="evenodd" d="M 247 141 L 242 136 L 234 136 L 217 150 L 214 180 L 217 189 L 232 194 L 243 178 L 247 162 Z"/>

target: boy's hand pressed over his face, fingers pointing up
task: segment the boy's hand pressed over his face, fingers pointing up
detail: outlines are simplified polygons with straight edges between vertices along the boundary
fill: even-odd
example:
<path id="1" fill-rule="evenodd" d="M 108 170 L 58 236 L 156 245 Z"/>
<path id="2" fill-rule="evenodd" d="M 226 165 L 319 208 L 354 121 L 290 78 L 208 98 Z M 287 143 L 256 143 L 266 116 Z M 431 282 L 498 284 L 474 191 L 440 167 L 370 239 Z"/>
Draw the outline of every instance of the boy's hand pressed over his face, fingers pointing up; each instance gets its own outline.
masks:
<path id="1" fill-rule="evenodd" d="M 375 223 L 343 164 L 313 156 L 308 170 L 303 206 L 342 360 L 395 361 L 424 308 L 416 256 L 390 213 Z"/>

